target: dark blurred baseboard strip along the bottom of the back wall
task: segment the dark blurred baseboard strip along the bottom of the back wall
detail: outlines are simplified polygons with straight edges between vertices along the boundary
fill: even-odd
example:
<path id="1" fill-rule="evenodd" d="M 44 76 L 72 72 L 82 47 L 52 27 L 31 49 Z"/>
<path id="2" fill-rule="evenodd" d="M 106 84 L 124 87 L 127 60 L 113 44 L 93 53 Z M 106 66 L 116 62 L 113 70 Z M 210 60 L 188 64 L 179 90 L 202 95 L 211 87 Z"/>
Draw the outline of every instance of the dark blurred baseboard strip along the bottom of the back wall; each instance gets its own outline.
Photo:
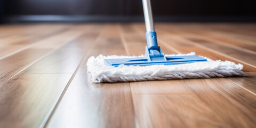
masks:
<path id="1" fill-rule="evenodd" d="M 143 16 L 124 17 L 106 15 L 17 15 L 3 18 L 5 23 L 20 22 L 140 22 Z M 156 16 L 163 22 L 256 22 L 255 16 Z"/>

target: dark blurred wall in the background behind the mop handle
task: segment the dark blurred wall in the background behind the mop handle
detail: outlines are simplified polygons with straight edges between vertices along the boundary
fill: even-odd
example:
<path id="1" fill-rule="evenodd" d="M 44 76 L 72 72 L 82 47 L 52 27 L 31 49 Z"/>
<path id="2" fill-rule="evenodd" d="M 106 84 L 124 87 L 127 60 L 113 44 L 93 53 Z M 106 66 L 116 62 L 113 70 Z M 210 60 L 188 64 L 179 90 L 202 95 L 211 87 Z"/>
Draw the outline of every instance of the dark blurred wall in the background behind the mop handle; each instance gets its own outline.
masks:
<path id="1" fill-rule="evenodd" d="M 1 1 L 1 0 L 0 0 Z M 141 0 L 2 0 L 5 19 L 141 21 Z M 151 0 L 156 20 L 253 20 L 256 1 Z M 49 17 L 51 15 L 52 17 Z M 37 17 L 32 17 L 37 16 Z M 40 16 L 40 17 L 39 17 Z M 53 17 L 57 16 L 57 17 Z M 111 20 L 109 20 L 111 21 Z"/>

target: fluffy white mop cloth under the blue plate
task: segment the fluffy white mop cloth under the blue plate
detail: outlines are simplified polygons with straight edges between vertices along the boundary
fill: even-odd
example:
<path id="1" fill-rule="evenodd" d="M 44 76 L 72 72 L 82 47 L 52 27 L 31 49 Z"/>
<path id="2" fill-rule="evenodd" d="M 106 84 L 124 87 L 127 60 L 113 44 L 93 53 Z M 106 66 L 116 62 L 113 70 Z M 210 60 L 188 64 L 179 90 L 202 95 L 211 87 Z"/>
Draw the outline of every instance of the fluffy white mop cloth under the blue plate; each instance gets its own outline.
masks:
<path id="1" fill-rule="evenodd" d="M 188 54 L 166 55 L 181 56 L 195 55 L 194 52 Z M 133 56 L 135 57 L 135 56 Z M 143 57 L 141 55 L 140 57 Z M 134 82 L 148 80 L 164 79 L 184 79 L 184 78 L 211 78 L 211 77 L 230 77 L 245 76 L 242 71 L 243 65 L 236 65 L 230 61 L 213 61 L 206 58 L 207 62 L 186 63 L 182 65 L 152 65 L 152 66 L 124 66 L 119 67 L 107 66 L 103 59 L 111 58 L 131 58 L 129 56 L 103 56 L 90 57 L 87 61 L 87 71 L 91 75 L 92 82 Z"/>

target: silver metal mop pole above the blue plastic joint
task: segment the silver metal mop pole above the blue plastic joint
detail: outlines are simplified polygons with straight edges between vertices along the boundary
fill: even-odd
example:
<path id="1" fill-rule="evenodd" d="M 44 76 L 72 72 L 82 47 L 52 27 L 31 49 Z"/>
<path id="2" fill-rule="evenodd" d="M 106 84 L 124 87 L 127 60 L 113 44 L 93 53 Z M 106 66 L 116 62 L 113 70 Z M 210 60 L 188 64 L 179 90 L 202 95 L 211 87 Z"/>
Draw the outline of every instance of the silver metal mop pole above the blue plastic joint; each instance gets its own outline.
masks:
<path id="1" fill-rule="evenodd" d="M 146 30 L 147 31 L 155 30 L 154 29 L 153 15 L 152 15 L 152 11 L 151 11 L 150 0 L 142 0 L 142 4 L 143 4 Z"/>

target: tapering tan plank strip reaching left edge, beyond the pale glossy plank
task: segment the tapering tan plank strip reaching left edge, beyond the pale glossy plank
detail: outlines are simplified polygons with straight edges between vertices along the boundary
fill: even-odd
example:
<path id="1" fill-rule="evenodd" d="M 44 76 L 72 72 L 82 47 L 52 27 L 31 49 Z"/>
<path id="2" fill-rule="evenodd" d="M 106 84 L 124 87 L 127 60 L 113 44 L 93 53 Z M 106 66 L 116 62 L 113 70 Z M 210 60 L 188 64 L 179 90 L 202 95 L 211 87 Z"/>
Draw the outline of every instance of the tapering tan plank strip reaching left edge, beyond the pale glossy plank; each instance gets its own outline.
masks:
<path id="1" fill-rule="evenodd" d="M 82 33 L 67 31 L 51 38 L 43 39 L 37 45 L 10 55 L 0 60 L 0 85 L 7 79 L 13 77 L 21 70 L 33 64 L 35 61 L 43 57 L 46 53 L 67 44 Z"/>

